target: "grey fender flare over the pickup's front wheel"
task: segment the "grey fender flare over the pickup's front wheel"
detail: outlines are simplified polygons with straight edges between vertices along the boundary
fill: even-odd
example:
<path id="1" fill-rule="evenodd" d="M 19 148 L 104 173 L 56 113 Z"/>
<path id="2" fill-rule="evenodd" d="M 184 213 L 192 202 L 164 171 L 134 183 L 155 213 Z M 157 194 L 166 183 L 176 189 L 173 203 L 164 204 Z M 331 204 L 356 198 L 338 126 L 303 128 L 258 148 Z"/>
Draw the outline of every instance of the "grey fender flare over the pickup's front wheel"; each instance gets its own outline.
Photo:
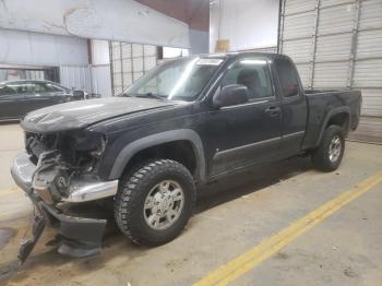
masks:
<path id="1" fill-rule="evenodd" d="M 123 174 L 129 162 L 138 153 L 148 150 L 151 147 L 159 146 L 165 143 L 175 143 L 186 141 L 192 146 L 193 155 L 195 157 L 195 177 L 200 181 L 206 179 L 206 166 L 204 157 L 204 148 L 200 135 L 192 129 L 178 129 L 160 133 L 155 133 L 145 138 L 141 138 L 124 146 L 118 154 L 115 164 L 111 167 L 109 179 L 118 179 Z"/>

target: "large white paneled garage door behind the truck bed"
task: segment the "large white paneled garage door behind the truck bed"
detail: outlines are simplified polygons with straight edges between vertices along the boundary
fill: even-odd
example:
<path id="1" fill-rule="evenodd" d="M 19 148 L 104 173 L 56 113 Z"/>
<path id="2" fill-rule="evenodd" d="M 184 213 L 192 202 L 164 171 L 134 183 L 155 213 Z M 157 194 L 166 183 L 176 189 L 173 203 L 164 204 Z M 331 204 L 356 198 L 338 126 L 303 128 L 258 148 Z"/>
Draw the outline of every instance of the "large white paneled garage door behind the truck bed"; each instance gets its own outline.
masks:
<path id="1" fill-rule="evenodd" d="M 382 143 L 382 0 L 283 0 L 279 35 L 306 87 L 362 91 L 351 136 Z"/>

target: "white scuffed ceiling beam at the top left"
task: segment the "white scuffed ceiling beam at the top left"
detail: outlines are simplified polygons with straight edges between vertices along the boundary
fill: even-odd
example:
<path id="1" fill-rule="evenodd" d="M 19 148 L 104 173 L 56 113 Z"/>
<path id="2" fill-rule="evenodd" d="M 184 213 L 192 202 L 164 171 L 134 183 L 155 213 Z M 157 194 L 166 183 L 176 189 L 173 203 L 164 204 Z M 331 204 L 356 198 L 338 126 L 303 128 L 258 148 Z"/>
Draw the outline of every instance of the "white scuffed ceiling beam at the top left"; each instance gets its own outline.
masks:
<path id="1" fill-rule="evenodd" d="M 190 47 L 188 24 L 133 0 L 1 0 L 0 27 Z"/>

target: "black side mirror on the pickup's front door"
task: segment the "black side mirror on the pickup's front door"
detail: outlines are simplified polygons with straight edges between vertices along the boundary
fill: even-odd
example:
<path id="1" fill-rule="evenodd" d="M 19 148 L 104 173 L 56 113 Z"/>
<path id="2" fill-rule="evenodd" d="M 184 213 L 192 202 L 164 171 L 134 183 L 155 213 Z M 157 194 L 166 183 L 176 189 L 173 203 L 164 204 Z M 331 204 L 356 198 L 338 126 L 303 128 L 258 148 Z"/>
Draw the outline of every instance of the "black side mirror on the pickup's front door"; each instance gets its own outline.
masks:
<path id="1" fill-rule="evenodd" d="M 212 102 L 215 108 L 248 103 L 248 88 L 242 84 L 230 84 L 222 88 Z"/>

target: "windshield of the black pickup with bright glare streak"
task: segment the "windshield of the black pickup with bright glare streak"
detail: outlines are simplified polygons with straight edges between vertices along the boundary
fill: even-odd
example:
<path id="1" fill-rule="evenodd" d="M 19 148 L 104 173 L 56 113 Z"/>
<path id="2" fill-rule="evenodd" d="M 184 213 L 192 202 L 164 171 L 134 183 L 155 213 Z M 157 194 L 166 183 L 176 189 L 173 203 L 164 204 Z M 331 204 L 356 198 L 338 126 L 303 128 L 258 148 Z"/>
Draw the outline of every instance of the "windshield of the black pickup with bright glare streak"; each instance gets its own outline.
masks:
<path id="1" fill-rule="evenodd" d="M 128 87 L 122 96 L 194 100 L 222 62 L 223 59 L 217 58 L 184 58 L 165 62 Z"/>

